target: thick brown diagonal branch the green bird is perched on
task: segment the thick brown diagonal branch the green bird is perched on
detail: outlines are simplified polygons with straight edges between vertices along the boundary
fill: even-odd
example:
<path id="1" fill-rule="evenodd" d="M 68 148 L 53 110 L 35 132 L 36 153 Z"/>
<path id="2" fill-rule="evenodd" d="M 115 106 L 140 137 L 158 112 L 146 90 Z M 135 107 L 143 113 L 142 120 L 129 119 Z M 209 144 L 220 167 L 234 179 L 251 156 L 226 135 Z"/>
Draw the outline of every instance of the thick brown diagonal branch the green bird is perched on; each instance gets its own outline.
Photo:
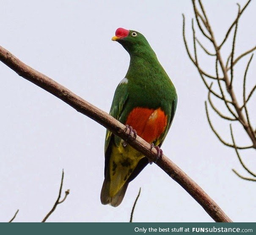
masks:
<path id="1" fill-rule="evenodd" d="M 75 95 L 66 87 L 58 84 L 56 81 L 45 76 L 42 73 L 34 70 L 33 68 L 25 65 L 17 57 L 11 54 L 9 51 L 0 46 L 0 60 L 5 63 L 9 68 L 14 70 L 23 78 L 31 81 L 32 83 L 50 92 L 65 103 L 72 106 L 78 112 L 94 119 L 94 121 L 103 125 L 115 135 L 124 139 L 134 149 L 143 153 L 151 161 L 157 159 L 157 150 L 151 148 L 151 144 L 137 136 L 136 139 L 128 138 L 129 133 L 126 133 L 126 127 L 121 122 L 118 122 L 109 114 L 96 108 L 81 97 Z M 159 159 L 156 163 L 162 170 L 165 171 L 173 180 L 180 184 L 203 208 L 204 210 L 218 222 L 231 222 L 231 219 L 221 210 L 221 208 L 196 184 L 186 173 L 184 173 L 177 165 L 175 165 L 165 155 Z"/>

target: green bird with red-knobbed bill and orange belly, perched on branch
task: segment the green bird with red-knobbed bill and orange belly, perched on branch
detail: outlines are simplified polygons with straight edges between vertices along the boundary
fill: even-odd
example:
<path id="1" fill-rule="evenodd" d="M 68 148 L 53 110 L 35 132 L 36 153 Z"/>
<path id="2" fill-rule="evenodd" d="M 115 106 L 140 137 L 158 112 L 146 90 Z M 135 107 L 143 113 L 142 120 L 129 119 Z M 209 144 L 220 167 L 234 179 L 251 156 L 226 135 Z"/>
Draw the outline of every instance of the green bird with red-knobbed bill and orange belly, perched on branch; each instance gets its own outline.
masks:
<path id="1" fill-rule="evenodd" d="M 118 84 L 110 115 L 127 125 L 129 132 L 156 146 L 163 143 L 177 107 L 176 89 L 146 38 L 135 30 L 118 28 L 113 41 L 130 55 L 127 74 Z M 136 131 L 135 131 L 136 130 Z M 127 186 L 149 163 L 148 159 L 109 130 L 105 138 L 105 180 L 102 204 L 120 205 Z"/>

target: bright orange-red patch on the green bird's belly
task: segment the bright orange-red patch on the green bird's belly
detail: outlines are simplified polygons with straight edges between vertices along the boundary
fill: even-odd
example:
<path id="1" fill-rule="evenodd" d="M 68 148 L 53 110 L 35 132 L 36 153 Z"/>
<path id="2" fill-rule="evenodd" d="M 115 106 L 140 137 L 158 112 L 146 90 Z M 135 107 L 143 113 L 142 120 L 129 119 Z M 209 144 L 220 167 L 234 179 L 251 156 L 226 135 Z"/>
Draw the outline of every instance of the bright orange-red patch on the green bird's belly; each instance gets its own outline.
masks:
<path id="1" fill-rule="evenodd" d="M 128 115 L 127 122 L 138 135 L 149 143 L 160 137 L 167 124 L 167 116 L 161 108 L 134 108 Z"/>

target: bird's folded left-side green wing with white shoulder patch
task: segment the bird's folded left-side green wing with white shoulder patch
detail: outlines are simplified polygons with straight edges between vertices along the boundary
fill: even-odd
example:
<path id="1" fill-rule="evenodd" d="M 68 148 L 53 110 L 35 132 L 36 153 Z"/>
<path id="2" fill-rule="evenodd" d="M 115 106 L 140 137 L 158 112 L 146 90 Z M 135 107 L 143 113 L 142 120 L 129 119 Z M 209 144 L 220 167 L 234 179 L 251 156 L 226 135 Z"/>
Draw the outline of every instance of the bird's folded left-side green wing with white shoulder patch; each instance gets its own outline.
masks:
<path id="1" fill-rule="evenodd" d="M 113 98 L 113 102 L 110 108 L 110 115 L 113 116 L 115 119 L 119 119 L 122 113 L 122 110 L 124 108 L 124 104 L 127 101 L 128 98 L 128 80 L 127 78 L 124 78 L 117 86 L 116 92 Z M 107 155 L 107 148 L 110 143 L 110 139 L 112 137 L 112 132 L 109 130 L 106 131 L 106 137 L 105 137 L 105 156 Z"/>

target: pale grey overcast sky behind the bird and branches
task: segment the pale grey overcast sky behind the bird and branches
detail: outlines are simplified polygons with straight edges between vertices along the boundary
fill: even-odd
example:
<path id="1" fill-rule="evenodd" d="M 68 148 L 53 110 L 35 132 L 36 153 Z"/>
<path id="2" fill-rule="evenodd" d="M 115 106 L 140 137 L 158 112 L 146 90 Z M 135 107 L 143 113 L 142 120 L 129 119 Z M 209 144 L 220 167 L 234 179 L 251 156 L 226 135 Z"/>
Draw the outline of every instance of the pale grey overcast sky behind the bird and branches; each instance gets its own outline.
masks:
<path id="1" fill-rule="evenodd" d="M 203 3 L 220 42 L 237 14 L 237 1 Z M 244 5 L 245 1 L 239 3 Z M 253 1 L 239 24 L 236 55 L 255 46 L 255 12 Z M 247 176 L 234 150 L 223 146 L 210 130 L 204 111 L 206 88 L 182 41 L 182 13 L 187 19 L 187 40 L 192 49 L 193 8 L 189 0 L 2 0 L 0 45 L 108 112 L 116 86 L 129 65 L 129 55 L 111 37 L 118 27 L 143 33 L 178 92 L 176 116 L 162 145 L 164 154 L 232 220 L 255 221 L 256 183 L 234 175 L 232 168 Z M 222 51 L 224 56 L 230 52 L 229 46 L 230 43 Z M 202 58 L 202 66 L 212 72 L 214 63 Z M 238 95 L 242 94 L 247 60 L 248 57 L 235 70 Z M 248 91 L 255 84 L 255 65 L 254 59 L 248 74 Z M 135 222 L 212 221 L 179 184 L 154 164 L 129 184 L 120 206 L 102 205 L 99 196 L 104 179 L 105 128 L 19 77 L 3 63 L 0 78 L 0 221 L 11 219 L 17 209 L 15 221 L 41 221 L 58 196 L 62 169 L 63 190 L 70 189 L 70 194 L 48 221 L 129 221 L 140 187 Z M 254 127 L 255 98 L 254 95 L 249 107 Z M 231 141 L 229 123 L 210 113 L 216 129 Z M 234 126 L 234 135 L 238 143 L 250 144 L 241 127 Z M 241 154 L 256 172 L 255 151 Z"/>

